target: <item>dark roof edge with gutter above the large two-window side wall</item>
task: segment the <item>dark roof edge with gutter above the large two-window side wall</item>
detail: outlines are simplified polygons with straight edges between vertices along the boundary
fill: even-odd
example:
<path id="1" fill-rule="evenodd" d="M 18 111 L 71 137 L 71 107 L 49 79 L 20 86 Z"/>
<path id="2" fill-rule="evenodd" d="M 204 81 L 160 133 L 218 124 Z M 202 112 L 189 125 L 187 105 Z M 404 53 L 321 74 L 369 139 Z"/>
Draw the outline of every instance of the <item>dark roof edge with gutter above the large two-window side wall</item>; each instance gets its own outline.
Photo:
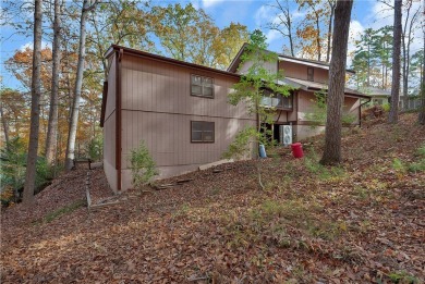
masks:
<path id="1" fill-rule="evenodd" d="M 148 58 L 148 59 L 151 59 L 155 61 L 162 61 L 162 62 L 167 62 L 167 63 L 170 63 L 173 65 L 204 70 L 204 71 L 214 72 L 214 73 L 218 73 L 218 74 L 227 75 L 227 76 L 231 76 L 231 77 L 236 77 L 236 78 L 240 77 L 239 74 L 235 74 L 232 72 L 222 71 L 219 69 L 207 67 L 204 65 L 194 64 L 194 63 L 190 63 L 190 62 L 185 62 L 185 61 L 181 61 L 181 60 L 177 60 L 177 59 L 172 59 L 172 58 L 167 58 L 167 57 L 162 57 L 162 55 L 157 55 L 157 54 L 149 53 L 146 51 L 142 51 L 142 50 L 133 49 L 133 48 L 127 48 L 127 47 L 123 47 L 123 46 L 118 46 L 118 45 L 111 45 L 110 48 L 105 53 L 105 58 L 109 58 L 110 55 L 112 55 L 113 52 L 117 52 L 120 50 L 122 50 L 124 54 L 132 54 L 132 55 L 136 55 L 136 57 Z"/>

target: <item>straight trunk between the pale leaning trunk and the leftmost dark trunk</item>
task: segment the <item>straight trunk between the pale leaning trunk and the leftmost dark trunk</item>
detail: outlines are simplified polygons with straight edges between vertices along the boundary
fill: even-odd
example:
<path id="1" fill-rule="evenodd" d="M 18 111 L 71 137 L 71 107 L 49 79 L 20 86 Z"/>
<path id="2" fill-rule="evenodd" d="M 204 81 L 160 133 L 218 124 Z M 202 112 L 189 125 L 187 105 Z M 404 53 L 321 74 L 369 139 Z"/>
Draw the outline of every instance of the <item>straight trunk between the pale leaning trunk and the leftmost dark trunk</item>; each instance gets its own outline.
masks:
<path id="1" fill-rule="evenodd" d="M 59 72 L 60 72 L 60 51 L 61 42 L 61 3 L 54 0 L 54 22 L 53 22 L 53 47 L 52 47 L 52 70 L 51 70 L 51 95 L 49 122 L 46 136 L 46 159 L 47 162 L 54 164 L 54 156 L 58 143 L 58 97 L 59 97 Z"/>

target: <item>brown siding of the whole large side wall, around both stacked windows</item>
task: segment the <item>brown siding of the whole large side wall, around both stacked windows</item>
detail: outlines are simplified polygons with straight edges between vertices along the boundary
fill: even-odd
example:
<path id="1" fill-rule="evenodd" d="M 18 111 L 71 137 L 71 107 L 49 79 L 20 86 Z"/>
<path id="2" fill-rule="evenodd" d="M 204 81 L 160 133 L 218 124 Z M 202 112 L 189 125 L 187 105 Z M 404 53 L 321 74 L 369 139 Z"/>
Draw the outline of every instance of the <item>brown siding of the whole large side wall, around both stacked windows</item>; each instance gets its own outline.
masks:
<path id="1" fill-rule="evenodd" d="M 214 78 L 214 99 L 191 96 L 192 74 Z M 238 78 L 130 54 L 123 57 L 121 78 L 123 170 L 141 140 L 158 168 L 183 169 L 220 160 L 236 133 L 255 125 L 245 103 L 227 102 Z M 215 143 L 191 143 L 191 121 L 215 122 Z"/>

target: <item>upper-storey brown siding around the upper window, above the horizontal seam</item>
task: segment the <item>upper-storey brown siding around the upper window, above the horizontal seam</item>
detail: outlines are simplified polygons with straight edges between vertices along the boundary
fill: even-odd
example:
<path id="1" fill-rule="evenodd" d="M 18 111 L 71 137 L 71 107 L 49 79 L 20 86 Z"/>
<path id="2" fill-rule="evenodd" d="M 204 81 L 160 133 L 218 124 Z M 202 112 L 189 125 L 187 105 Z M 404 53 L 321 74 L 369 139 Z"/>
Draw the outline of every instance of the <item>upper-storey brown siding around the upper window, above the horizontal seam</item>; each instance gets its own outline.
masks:
<path id="1" fill-rule="evenodd" d="M 244 103 L 227 103 L 236 78 L 125 55 L 122 61 L 122 109 L 223 118 L 250 118 Z M 215 98 L 191 96 L 191 74 L 212 77 Z"/>

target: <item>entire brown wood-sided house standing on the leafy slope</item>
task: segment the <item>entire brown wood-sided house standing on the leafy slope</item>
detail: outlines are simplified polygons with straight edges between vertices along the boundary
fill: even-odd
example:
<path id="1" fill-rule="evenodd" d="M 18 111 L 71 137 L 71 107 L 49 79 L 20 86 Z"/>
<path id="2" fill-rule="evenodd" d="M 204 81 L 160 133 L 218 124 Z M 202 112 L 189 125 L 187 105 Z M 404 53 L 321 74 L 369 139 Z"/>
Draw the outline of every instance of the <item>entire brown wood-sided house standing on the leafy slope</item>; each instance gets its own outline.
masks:
<path id="1" fill-rule="evenodd" d="M 104 84 L 100 125 L 104 127 L 104 169 L 114 192 L 131 187 L 131 150 L 144 140 L 159 177 L 196 170 L 221 159 L 239 131 L 256 125 L 244 103 L 231 106 L 228 94 L 240 81 L 238 53 L 228 71 L 196 65 L 112 45 L 106 53 L 108 81 Z M 271 69 L 284 69 L 281 84 L 295 87 L 290 98 L 277 97 L 276 137 L 292 125 L 293 138 L 311 135 L 304 120 L 314 91 L 326 89 L 329 66 L 279 57 Z M 344 108 L 360 123 L 360 99 L 345 90 Z M 323 126 L 321 126 L 323 128 Z M 281 139 L 280 139 L 281 140 Z"/>

